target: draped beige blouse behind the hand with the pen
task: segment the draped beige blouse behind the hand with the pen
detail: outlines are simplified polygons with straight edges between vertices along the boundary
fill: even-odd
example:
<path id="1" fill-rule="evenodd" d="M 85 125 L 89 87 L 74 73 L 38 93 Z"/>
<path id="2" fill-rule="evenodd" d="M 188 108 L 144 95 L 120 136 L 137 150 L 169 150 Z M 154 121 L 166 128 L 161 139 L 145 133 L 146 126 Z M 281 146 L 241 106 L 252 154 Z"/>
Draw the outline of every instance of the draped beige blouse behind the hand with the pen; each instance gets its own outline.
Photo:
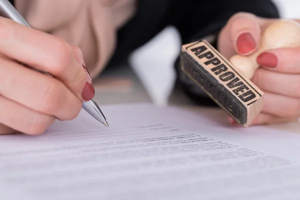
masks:
<path id="1" fill-rule="evenodd" d="M 116 31 L 136 9 L 135 0 L 15 0 L 28 23 L 81 48 L 92 77 L 112 55 Z"/>

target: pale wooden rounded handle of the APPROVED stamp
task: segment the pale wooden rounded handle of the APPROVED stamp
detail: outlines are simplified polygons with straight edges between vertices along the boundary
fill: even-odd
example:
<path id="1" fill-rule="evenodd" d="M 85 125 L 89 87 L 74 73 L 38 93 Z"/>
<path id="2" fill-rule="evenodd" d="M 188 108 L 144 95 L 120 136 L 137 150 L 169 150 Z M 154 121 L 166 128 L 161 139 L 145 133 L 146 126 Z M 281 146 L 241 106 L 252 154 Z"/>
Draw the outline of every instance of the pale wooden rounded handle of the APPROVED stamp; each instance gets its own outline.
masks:
<path id="1" fill-rule="evenodd" d="M 230 62 L 248 79 L 259 67 L 256 57 L 263 51 L 280 47 L 300 46 L 300 24 L 294 20 L 281 19 L 270 24 L 262 34 L 258 50 L 249 56 L 234 55 Z"/>

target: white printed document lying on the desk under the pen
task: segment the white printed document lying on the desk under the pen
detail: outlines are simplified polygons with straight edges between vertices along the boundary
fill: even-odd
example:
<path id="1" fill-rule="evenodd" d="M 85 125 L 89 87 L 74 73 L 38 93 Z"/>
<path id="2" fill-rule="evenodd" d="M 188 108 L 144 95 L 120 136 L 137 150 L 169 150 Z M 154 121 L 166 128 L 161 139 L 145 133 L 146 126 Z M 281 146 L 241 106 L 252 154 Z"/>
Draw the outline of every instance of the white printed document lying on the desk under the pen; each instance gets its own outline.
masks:
<path id="1" fill-rule="evenodd" d="M 300 199 L 300 135 L 150 104 L 0 136 L 0 199 Z M 217 119 L 217 120 L 216 120 Z"/>

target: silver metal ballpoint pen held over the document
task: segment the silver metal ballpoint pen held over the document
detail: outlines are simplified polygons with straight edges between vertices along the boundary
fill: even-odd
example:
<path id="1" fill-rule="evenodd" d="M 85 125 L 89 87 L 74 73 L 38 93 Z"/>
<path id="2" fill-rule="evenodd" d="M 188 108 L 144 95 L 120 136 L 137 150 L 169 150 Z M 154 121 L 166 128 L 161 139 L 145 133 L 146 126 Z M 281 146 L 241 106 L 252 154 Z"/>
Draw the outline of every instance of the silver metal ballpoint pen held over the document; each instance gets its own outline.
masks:
<path id="1" fill-rule="evenodd" d="M 13 7 L 13 5 L 8 0 L 0 0 L 0 14 L 3 17 L 10 18 L 20 24 L 29 26 L 29 23 L 18 13 L 18 11 Z M 42 72 L 42 71 L 40 71 Z M 45 73 L 45 72 L 42 72 Z M 91 116 L 93 116 L 96 120 L 103 123 L 108 127 L 108 123 L 101 109 L 94 101 L 91 99 L 87 102 L 82 102 L 82 108 L 87 111 Z"/>

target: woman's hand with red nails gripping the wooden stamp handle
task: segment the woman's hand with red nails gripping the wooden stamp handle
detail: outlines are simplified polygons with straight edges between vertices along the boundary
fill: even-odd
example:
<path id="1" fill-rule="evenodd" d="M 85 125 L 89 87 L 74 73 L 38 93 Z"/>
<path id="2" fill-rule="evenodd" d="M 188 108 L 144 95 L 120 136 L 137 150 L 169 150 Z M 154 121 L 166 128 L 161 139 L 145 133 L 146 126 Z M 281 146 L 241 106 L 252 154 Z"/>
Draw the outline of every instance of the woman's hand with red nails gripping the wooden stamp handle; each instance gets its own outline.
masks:
<path id="1" fill-rule="evenodd" d="M 264 29 L 277 19 L 260 18 L 250 13 L 237 13 L 223 27 L 218 49 L 230 58 L 236 53 L 250 55 L 260 45 Z M 278 48 L 257 56 L 259 67 L 251 81 L 263 92 L 262 111 L 252 124 L 297 120 L 300 116 L 300 46 Z M 235 121 L 229 117 L 229 122 Z"/>

